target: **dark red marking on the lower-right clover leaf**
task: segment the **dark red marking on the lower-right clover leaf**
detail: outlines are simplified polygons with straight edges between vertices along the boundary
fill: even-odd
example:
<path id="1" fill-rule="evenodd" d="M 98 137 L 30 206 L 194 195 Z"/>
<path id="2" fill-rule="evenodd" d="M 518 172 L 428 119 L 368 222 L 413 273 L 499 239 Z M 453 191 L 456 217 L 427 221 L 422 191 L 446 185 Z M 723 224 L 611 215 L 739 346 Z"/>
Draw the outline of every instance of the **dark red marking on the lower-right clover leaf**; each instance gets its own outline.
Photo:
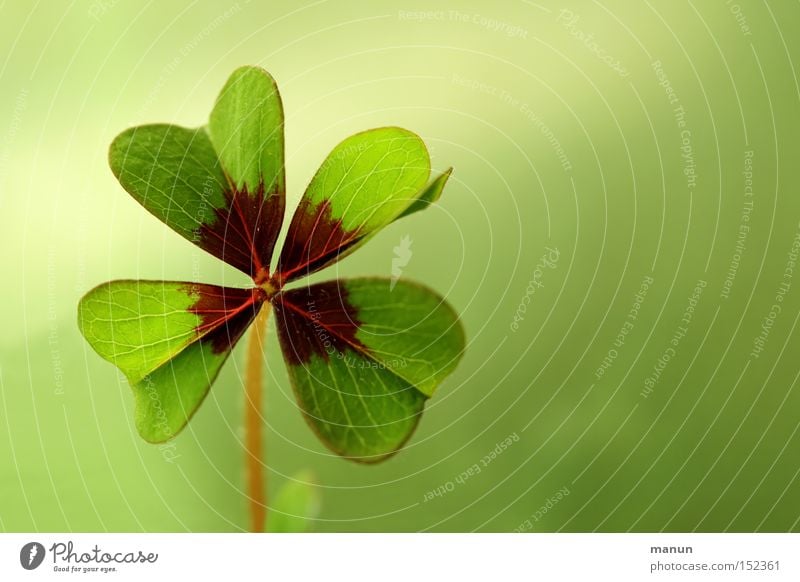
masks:
<path id="1" fill-rule="evenodd" d="M 283 291 L 272 302 L 283 355 L 290 364 L 305 364 L 315 354 L 327 361 L 347 348 L 367 350 L 356 338 L 358 310 L 338 281 Z"/>

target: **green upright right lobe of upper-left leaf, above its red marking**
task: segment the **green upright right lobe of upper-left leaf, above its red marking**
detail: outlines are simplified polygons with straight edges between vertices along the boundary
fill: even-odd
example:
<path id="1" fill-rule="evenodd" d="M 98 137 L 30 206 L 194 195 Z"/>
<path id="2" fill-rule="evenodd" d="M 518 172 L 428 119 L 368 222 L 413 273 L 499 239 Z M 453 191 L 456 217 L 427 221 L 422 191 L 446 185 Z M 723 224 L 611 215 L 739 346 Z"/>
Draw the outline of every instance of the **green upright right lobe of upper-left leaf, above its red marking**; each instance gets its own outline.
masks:
<path id="1" fill-rule="evenodd" d="M 238 190 L 285 192 L 283 105 L 275 80 L 260 67 L 228 78 L 208 124 L 211 141 Z"/>

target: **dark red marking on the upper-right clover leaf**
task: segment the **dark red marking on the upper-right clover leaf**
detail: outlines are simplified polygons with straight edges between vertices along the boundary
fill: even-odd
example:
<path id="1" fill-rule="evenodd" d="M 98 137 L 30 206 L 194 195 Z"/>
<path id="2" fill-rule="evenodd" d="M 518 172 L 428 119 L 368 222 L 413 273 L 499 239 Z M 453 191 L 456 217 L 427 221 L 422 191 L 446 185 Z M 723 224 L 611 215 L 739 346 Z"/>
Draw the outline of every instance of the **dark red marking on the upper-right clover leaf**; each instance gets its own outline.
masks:
<path id="1" fill-rule="evenodd" d="M 359 234 L 359 229 L 344 230 L 341 219 L 333 219 L 329 200 L 315 207 L 303 200 L 292 217 L 278 261 L 281 282 L 310 275 L 335 262 L 358 242 Z"/>

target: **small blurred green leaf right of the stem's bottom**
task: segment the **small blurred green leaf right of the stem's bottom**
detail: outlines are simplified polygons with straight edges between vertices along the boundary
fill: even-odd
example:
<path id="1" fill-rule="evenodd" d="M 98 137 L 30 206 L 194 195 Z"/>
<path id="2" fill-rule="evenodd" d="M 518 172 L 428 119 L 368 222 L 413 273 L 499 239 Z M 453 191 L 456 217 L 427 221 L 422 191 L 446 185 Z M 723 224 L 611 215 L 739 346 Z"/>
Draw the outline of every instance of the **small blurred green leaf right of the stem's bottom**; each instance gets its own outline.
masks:
<path id="1" fill-rule="evenodd" d="M 270 504 L 267 531 L 305 533 L 319 515 L 320 496 L 310 471 L 301 471 L 284 483 Z"/>

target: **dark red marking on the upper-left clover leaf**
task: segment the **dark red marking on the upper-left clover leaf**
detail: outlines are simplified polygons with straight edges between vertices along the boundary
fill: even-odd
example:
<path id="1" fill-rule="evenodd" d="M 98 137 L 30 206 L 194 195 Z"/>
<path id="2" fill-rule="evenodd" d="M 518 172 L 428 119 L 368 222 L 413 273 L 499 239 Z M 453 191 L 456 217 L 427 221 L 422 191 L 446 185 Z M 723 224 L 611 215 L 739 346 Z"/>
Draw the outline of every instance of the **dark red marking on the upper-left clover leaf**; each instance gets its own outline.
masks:
<path id="1" fill-rule="evenodd" d="M 226 205 L 215 208 L 214 220 L 200 227 L 200 246 L 247 273 L 257 284 L 269 277 L 269 263 L 283 224 L 284 192 L 264 192 L 260 183 L 254 193 L 226 190 Z"/>

